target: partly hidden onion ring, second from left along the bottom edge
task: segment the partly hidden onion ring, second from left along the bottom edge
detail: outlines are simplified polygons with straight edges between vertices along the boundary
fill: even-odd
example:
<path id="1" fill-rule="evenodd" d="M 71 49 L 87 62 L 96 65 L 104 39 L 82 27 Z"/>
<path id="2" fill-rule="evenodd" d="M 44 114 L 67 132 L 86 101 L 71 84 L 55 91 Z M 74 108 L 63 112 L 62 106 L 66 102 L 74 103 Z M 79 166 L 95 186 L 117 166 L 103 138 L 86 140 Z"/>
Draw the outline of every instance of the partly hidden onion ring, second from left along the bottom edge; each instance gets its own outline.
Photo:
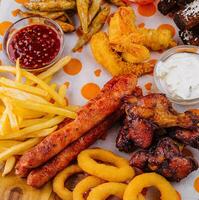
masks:
<path id="1" fill-rule="evenodd" d="M 80 181 L 73 190 L 73 199 L 75 200 L 85 200 L 84 194 L 90 189 L 104 183 L 104 181 L 95 176 L 88 176 Z"/>

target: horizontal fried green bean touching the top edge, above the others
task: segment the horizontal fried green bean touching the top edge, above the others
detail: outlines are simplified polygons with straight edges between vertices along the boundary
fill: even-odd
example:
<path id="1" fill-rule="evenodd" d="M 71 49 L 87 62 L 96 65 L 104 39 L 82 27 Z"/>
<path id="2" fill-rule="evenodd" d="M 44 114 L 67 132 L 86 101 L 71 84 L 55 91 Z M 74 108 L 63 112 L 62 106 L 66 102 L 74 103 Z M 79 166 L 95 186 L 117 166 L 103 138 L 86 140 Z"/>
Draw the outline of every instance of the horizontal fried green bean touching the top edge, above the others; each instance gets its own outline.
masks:
<path id="1" fill-rule="evenodd" d="M 75 8 L 75 1 L 48 1 L 48 2 L 28 2 L 24 3 L 24 6 L 29 10 L 38 11 L 64 11 Z"/>

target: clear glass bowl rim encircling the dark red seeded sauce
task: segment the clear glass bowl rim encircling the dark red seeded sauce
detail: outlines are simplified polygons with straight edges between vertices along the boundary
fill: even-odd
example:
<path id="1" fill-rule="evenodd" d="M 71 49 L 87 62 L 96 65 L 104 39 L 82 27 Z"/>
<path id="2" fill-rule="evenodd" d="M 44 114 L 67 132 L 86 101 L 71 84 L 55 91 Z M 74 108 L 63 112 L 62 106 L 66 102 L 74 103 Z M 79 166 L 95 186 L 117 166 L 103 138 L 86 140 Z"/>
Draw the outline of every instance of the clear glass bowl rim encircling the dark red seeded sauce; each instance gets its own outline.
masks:
<path id="1" fill-rule="evenodd" d="M 59 26 L 59 24 L 57 24 L 55 21 L 53 21 L 49 18 L 39 17 L 39 16 L 22 18 L 22 19 L 16 21 L 15 23 L 13 23 L 8 28 L 8 30 L 6 31 L 6 34 L 4 36 L 4 39 L 3 39 L 4 53 L 6 54 L 7 58 L 9 59 L 9 61 L 12 64 L 16 64 L 16 62 L 13 61 L 13 59 L 11 59 L 11 57 L 9 55 L 9 51 L 8 51 L 10 38 L 12 38 L 12 36 L 17 31 L 21 30 L 22 28 L 28 27 L 30 25 L 37 25 L 37 24 L 46 25 L 46 26 L 52 28 L 56 32 L 58 39 L 60 40 L 60 49 L 59 49 L 58 54 L 55 56 L 55 58 L 50 63 L 48 63 L 47 65 L 44 65 L 44 66 L 41 66 L 41 67 L 38 67 L 38 68 L 32 68 L 32 69 L 21 66 L 21 68 L 23 68 L 27 71 L 30 71 L 30 72 L 34 72 L 34 73 L 39 73 L 39 72 L 45 71 L 46 69 L 51 67 L 53 64 L 55 64 L 58 61 L 58 59 L 61 57 L 61 54 L 62 54 L 63 49 L 64 49 L 64 33 L 62 31 L 62 28 Z"/>

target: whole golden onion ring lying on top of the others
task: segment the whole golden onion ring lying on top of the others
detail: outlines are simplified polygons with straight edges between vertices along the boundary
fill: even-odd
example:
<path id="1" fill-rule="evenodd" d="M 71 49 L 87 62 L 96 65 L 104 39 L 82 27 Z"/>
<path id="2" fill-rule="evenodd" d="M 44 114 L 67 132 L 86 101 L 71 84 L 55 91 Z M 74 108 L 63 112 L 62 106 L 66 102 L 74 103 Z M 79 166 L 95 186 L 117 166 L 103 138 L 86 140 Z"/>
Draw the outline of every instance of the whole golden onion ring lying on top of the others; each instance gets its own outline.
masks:
<path id="1" fill-rule="evenodd" d="M 108 164 L 98 163 L 102 161 Z M 135 175 L 134 169 L 126 159 L 103 149 L 88 149 L 78 156 L 78 165 L 88 174 L 97 176 L 106 181 L 124 182 Z"/>

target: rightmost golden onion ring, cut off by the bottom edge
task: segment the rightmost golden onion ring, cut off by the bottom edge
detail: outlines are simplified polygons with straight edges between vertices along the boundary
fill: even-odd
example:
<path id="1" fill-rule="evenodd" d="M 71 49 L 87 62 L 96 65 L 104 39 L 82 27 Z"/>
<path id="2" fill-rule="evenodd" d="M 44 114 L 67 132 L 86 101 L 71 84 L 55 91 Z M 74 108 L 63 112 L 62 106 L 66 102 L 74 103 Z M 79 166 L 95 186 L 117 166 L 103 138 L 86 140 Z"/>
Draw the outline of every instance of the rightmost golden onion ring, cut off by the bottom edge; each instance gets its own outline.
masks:
<path id="1" fill-rule="evenodd" d="M 136 176 L 124 192 L 124 200 L 139 200 L 138 195 L 146 187 L 155 186 L 161 194 L 161 200 L 178 200 L 178 194 L 173 186 L 156 173 L 145 173 Z"/>

